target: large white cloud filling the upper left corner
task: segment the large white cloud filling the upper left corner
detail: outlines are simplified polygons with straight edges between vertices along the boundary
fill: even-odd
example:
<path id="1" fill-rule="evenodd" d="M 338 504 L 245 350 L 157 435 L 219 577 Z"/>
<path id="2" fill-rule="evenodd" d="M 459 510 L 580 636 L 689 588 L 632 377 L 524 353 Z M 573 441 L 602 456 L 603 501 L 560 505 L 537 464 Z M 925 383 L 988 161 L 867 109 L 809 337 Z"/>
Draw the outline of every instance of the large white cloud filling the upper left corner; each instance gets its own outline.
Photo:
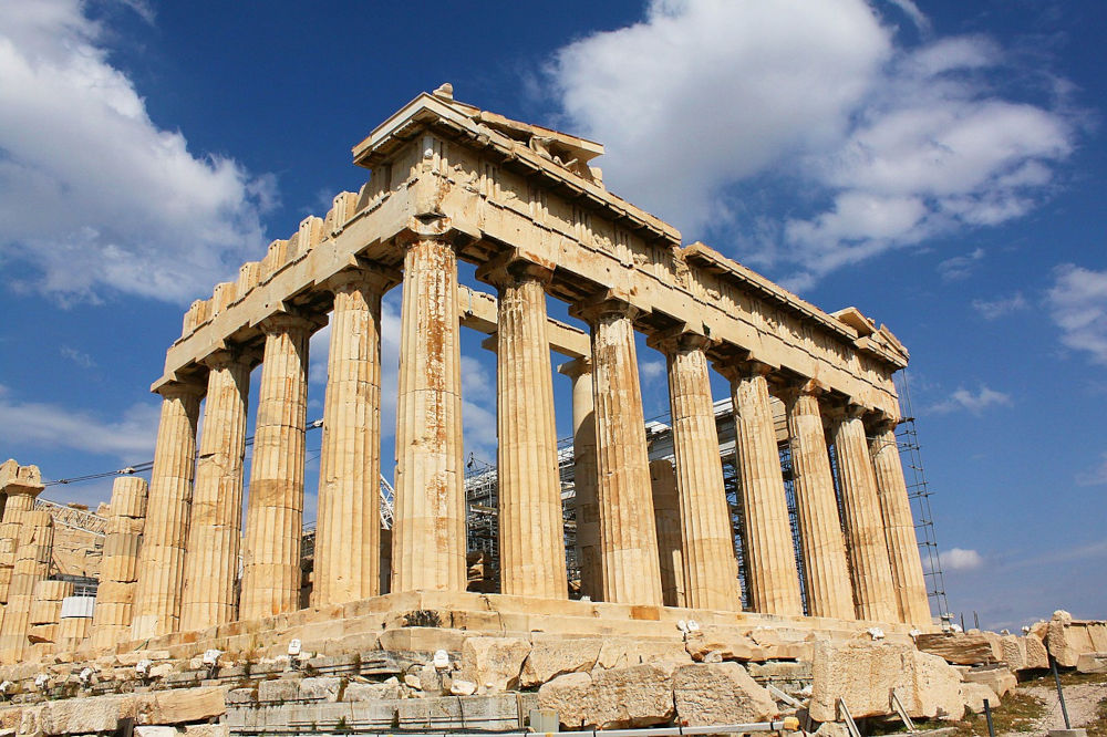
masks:
<path id="1" fill-rule="evenodd" d="M 262 251 L 257 210 L 273 180 L 158 127 L 84 7 L 37 0 L 0 14 L 0 260 L 69 300 L 206 295 Z"/>

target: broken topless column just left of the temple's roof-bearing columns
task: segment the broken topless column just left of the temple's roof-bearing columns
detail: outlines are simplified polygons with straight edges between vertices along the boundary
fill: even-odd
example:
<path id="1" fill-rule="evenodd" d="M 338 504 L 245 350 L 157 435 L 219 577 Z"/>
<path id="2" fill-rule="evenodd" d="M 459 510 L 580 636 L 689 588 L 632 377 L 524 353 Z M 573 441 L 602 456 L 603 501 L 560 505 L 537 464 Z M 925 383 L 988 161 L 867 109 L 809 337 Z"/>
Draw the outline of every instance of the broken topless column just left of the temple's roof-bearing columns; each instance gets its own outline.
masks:
<path id="1" fill-rule="evenodd" d="M 92 614 L 90 644 L 96 650 L 112 647 L 131 634 L 147 495 L 145 479 L 137 476 L 117 478 L 112 485 L 111 518 Z"/>

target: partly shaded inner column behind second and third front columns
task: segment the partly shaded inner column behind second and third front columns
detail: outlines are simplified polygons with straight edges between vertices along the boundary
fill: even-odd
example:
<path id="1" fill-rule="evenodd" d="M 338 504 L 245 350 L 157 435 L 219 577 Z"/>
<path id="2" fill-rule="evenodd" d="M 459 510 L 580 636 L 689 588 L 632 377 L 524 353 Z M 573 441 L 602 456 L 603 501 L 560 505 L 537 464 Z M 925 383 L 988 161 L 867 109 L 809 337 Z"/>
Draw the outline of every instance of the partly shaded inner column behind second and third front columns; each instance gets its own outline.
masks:
<path id="1" fill-rule="evenodd" d="M 592 399 L 592 361 L 573 359 L 558 366 L 572 381 L 572 486 L 577 504 L 577 565 L 580 593 L 593 601 L 603 598 L 600 570 L 600 511 L 596 498 L 596 414 Z"/>

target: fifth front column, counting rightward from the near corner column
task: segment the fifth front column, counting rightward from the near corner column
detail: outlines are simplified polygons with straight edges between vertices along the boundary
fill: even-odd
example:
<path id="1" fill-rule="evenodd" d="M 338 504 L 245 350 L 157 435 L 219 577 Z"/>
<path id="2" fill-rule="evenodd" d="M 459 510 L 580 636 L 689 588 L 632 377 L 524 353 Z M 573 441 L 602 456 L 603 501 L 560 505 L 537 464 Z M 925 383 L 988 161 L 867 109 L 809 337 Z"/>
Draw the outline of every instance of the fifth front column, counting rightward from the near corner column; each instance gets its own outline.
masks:
<path id="1" fill-rule="evenodd" d="M 799 572 L 765 380 L 767 371 L 767 366 L 751 363 L 730 372 L 749 603 L 756 612 L 798 615 L 804 613 Z"/>

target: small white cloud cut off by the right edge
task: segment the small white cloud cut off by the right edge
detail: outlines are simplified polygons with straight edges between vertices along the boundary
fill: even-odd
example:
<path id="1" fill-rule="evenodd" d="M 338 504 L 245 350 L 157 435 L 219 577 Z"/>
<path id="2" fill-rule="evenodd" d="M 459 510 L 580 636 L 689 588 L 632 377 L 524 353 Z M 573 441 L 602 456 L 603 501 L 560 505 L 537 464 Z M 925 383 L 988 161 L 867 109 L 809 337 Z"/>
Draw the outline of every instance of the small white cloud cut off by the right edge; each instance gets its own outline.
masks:
<path id="1" fill-rule="evenodd" d="M 1107 270 L 1058 266 L 1046 302 L 1061 328 L 1061 342 L 1090 353 L 1095 363 L 1107 364 Z"/>

